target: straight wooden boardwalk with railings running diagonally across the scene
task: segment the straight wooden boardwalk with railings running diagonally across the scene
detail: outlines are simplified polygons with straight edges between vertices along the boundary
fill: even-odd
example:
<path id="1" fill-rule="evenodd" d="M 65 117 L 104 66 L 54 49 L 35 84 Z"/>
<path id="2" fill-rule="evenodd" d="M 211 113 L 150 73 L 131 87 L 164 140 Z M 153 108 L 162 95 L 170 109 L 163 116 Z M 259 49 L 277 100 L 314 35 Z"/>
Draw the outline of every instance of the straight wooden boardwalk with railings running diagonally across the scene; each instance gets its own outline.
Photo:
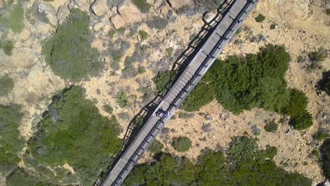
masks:
<path id="1" fill-rule="evenodd" d="M 216 25 L 202 49 L 198 51 L 182 75 L 178 77 L 176 83 L 166 94 L 154 113 L 152 113 L 152 116 L 149 117 L 102 185 L 121 185 L 128 173 L 133 169 L 133 166 L 135 166 L 135 163 L 138 162 L 142 154 L 171 118 L 159 118 L 156 116 L 156 112 L 162 108 L 164 111 L 169 111 L 171 116 L 173 116 L 176 109 L 181 106 L 185 98 L 188 97 L 210 66 L 212 66 L 222 49 L 231 41 L 233 35 L 236 34 L 238 28 L 242 25 L 243 20 L 255 8 L 257 2 L 258 0 L 233 1 L 226 15 Z"/>

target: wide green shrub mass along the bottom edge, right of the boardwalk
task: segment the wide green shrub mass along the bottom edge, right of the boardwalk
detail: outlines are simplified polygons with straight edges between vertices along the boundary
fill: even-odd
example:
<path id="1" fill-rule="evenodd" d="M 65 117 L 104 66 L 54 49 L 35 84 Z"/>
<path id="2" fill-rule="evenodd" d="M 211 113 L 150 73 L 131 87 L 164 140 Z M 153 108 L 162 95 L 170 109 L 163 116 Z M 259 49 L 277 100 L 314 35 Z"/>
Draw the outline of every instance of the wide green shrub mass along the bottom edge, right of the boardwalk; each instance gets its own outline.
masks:
<path id="1" fill-rule="evenodd" d="M 240 139 L 241 137 L 238 137 Z M 251 141 L 251 142 L 250 142 Z M 221 151 L 204 150 L 197 157 L 196 163 L 183 157 L 170 154 L 161 154 L 156 162 L 136 166 L 124 181 L 125 185 L 287 185 L 310 186 L 312 181 L 298 173 L 288 173 L 276 166 L 272 160 L 276 148 L 266 150 L 257 149 L 254 139 L 244 137 L 234 142 L 240 147 L 238 154 L 232 156 L 245 156 L 245 161 L 227 163 Z M 244 145 L 249 147 L 244 147 Z M 252 154 L 250 152 L 253 152 Z M 267 152 L 265 152 L 267 151 Z"/>

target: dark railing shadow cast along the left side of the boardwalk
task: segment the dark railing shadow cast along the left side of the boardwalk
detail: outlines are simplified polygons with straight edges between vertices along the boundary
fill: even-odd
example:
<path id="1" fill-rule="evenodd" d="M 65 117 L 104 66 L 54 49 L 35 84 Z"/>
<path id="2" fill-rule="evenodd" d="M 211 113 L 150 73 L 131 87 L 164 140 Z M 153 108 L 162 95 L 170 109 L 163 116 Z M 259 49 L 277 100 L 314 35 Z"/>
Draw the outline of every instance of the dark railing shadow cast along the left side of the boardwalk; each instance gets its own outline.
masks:
<path id="1" fill-rule="evenodd" d="M 197 52 L 200 51 L 204 42 L 206 42 L 209 35 L 212 34 L 212 31 L 215 29 L 216 25 L 219 24 L 222 19 L 222 16 L 226 14 L 226 11 L 228 11 L 233 1 L 235 0 L 225 0 L 217 9 L 216 16 L 214 16 L 212 20 L 210 20 L 208 23 L 204 20 L 204 25 L 202 26 L 200 32 L 198 32 L 197 36 L 194 37 L 194 39 L 188 44 L 187 49 L 185 49 L 181 56 L 179 56 L 178 59 L 173 63 L 171 70 L 173 70 L 176 75 L 172 77 L 171 80 L 167 83 L 167 91 L 163 93 L 158 92 L 157 96 L 146 106 L 144 106 L 140 110 L 140 112 L 135 115 L 134 118 L 130 121 L 130 124 L 126 129 L 123 138 L 123 148 L 121 149 L 121 151 L 118 152 L 118 154 L 111 157 L 111 161 L 109 163 L 109 166 L 106 168 L 106 171 L 103 171 L 99 175 L 99 180 L 94 182 L 94 185 L 101 185 L 102 180 L 105 180 L 106 176 L 109 175 L 111 169 L 115 166 L 116 162 L 121 158 L 123 153 L 133 142 L 136 135 L 138 135 L 138 132 L 140 132 L 141 128 L 146 123 L 148 118 L 152 115 L 152 113 L 154 113 L 154 110 L 157 108 L 161 100 L 164 99 L 164 96 L 167 94 L 167 92 L 169 92 L 169 90 L 171 89 L 171 85 L 176 82 L 178 77 L 180 77 L 181 73 L 183 73 L 185 68 L 187 68 L 190 61 L 192 61 Z"/>

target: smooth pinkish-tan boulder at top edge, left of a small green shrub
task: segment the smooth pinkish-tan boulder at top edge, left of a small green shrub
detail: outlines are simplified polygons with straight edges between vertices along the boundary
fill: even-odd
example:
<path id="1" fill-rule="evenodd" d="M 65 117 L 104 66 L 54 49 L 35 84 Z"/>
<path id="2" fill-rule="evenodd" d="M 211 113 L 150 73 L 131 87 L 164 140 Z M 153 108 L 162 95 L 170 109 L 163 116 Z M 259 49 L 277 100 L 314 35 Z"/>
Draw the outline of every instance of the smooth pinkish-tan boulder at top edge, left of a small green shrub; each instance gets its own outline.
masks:
<path id="1" fill-rule="evenodd" d="M 117 11 L 126 23 L 137 23 L 143 18 L 142 13 L 138 7 L 132 3 L 132 1 L 122 1 L 118 4 Z"/>

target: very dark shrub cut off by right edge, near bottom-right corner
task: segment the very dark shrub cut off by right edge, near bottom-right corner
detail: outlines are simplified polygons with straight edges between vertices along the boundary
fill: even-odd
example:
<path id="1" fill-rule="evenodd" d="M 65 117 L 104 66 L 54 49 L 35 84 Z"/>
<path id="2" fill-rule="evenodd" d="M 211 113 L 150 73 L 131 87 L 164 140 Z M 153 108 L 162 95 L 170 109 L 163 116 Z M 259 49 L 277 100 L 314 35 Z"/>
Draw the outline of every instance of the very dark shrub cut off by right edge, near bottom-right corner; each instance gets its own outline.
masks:
<path id="1" fill-rule="evenodd" d="M 321 152 L 323 174 L 326 179 L 330 180 L 330 139 L 324 140 L 319 151 Z"/>

